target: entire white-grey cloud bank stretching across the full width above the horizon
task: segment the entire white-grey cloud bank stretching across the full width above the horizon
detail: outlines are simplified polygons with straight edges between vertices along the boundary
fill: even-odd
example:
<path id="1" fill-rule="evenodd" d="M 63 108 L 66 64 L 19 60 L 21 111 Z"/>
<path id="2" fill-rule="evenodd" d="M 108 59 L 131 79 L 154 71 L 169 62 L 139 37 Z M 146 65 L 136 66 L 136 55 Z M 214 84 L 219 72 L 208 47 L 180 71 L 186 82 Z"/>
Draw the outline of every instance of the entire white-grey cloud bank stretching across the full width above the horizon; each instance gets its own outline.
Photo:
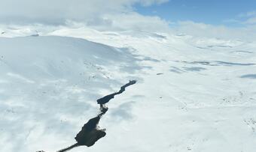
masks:
<path id="1" fill-rule="evenodd" d="M 227 27 L 200 22 L 170 22 L 158 16 L 143 16 L 134 4 L 149 6 L 169 0 L 0 0 L 0 23 L 35 23 L 90 26 L 100 30 L 140 30 L 185 33 L 198 37 L 256 40 L 256 11 L 241 13 L 224 22 L 242 25 Z M 79 22 L 79 23 L 78 23 Z M 172 23 L 173 25 L 173 23 Z"/>

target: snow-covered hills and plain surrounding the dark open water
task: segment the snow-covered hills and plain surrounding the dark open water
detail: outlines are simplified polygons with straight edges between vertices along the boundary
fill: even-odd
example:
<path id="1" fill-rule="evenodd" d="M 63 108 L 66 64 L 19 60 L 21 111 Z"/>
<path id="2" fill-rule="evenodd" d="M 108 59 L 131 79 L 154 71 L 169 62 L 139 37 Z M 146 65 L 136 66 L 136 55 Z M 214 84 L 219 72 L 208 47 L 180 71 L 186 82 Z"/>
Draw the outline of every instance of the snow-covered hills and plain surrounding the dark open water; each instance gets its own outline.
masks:
<path id="1" fill-rule="evenodd" d="M 25 32 L 26 31 L 26 32 Z M 256 43 L 60 28 L 0 37 L 0 151 L 57 151 L 108 103 L 92 152 L 254 152 Z M 27 32 L 28 31 L 28 32 Z M 17 37 L 22 36 L 22 37 Z"/>

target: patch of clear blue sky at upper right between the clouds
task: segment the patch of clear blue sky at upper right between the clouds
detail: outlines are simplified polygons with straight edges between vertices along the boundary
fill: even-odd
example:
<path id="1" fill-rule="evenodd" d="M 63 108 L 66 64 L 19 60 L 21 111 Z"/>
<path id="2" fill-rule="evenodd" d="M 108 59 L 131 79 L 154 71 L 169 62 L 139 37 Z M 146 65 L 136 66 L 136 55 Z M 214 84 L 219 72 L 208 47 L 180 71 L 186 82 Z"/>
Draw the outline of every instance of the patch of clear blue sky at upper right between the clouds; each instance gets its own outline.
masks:
<path id="1" fill-rule="evenodd" d="M 256 0 L 170 0 L 150 7 L 136 5 L 135 9 L 143 15 L 160 16 L 172 22 L 190 20 L 212 25 L 239 25 L 239 22 L 227 20 L 241 19 L 239 14 L 256 10 Z"/>

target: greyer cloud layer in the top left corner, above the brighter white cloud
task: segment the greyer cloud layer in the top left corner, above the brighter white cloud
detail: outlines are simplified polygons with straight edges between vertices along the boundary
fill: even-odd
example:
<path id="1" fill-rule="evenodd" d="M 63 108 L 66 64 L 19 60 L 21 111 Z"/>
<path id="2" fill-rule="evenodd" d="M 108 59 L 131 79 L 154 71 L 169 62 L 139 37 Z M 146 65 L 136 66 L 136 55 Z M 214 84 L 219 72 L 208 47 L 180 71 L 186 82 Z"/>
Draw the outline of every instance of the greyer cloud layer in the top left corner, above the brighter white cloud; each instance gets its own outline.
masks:
<path id="1" fill-rule="evenodd" d="M 63 24 L 66 19 L 87 22 L 106 13 L 132 11 L 133 4 L 148 6 L 168 0 L 0 0 L 0 22 Z"/>

